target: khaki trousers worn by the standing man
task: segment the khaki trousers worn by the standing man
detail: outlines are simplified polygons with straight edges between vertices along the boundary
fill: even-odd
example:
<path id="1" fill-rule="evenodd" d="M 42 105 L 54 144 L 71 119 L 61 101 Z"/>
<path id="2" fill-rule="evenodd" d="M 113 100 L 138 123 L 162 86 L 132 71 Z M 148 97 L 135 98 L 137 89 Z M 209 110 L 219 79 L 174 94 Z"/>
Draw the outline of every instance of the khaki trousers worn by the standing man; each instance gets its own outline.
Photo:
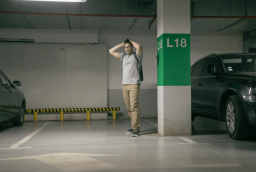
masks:
<path id="1" fill-rule="evenodd" d="M 123 97 L 131 119 L 131 129 L 136 132 L 140 131 L 139 91 L 140 85 L 122 85 Z"/>

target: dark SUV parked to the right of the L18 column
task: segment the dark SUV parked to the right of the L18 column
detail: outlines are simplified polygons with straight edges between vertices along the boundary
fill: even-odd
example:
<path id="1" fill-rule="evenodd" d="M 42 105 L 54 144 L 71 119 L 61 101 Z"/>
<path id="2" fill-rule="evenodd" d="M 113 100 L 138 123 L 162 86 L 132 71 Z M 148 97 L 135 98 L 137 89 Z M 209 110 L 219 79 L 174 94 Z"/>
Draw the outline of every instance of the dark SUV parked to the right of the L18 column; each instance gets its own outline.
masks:
<path id="1" fill-rule="evenodd" d="M 191 67 L 192 122 L 203 116 L 226 123 L 243 139 L 256 127 L 256 54 L 211 54 Z"/>

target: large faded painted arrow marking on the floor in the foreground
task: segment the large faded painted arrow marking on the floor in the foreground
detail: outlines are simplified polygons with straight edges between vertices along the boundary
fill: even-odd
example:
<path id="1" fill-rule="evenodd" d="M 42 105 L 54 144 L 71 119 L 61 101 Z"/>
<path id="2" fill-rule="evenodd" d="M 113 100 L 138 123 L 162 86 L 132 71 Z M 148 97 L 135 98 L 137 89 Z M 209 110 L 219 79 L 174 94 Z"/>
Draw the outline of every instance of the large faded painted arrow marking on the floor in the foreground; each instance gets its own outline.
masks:
<path id="1" fill-rule="evenodd" d="M 23 160 L 23 159 L 36 159 L 44 164 L 56 167 L 64 172 L 75 171 L 120 171 L 120 170 L 158 170 L 158 169 L 200 169 L 200 168 L 241 168 L 244 166 L 238 163 L 218 163 L 218 164 L 177 164 L 177 165 L 143 165 L 143 166 L 117 166 L 107 162 L 94 159 L 93 157 L 103 156 L 108 159 L 115 154 L 86 154 L 86 153 L 56 153 L 44 154 L 36 156 L 26 156 L 17 158 L 0 159 L 1 161 L 7 160 Z M 109 157 L 108 157 L 109 156 Z M 122 161 L 123 158 L 115 158 L 115 161 Z M 28 166 L 28 168 L 30 168 Z"/>

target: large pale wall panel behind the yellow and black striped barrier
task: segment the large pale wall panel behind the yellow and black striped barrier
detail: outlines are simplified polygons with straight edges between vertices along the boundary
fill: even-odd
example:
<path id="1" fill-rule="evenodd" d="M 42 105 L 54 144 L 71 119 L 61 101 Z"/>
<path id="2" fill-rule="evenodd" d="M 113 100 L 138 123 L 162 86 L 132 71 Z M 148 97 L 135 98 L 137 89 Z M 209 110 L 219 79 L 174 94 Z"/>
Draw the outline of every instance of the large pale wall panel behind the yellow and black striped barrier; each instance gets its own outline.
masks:
<path id="1" fill-rule="evenodd" d="M 106 45 L 2 43 L 0 52 L 0 69 L 21 81 L 27 108 L 107 106 Z"/>

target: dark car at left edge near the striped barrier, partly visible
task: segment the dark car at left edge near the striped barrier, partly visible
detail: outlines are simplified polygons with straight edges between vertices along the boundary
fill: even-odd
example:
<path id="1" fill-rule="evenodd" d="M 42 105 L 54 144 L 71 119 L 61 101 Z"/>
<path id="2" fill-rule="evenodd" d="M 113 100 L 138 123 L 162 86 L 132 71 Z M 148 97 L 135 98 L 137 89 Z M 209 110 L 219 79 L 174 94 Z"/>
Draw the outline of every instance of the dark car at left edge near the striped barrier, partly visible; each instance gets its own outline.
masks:
<path id="1" fill-rule="evenodd" d="M 0 70 L 0 122 L 11 121 L 14 126 L 23 124 L 26 102 L 24 94 L 17 89 L 21 82 L 13 83 Z"/>

